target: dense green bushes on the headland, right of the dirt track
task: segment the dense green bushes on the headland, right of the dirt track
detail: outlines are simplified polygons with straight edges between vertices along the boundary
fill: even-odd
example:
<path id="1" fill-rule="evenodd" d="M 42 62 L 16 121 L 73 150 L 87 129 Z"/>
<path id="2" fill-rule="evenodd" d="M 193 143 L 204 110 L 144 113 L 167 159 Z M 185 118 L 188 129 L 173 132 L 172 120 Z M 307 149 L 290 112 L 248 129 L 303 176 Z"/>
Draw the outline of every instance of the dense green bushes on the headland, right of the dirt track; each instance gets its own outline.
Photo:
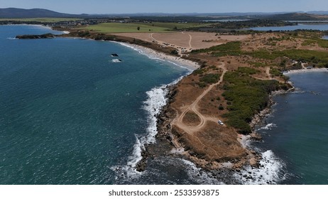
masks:
<path id="1" fill-rule="evenodd" d="M 248 70 L 239 68 L 224 75 L 224 98 L 228 101 L 228 113 L 224 114 L 227 124 L 241 134 L 251 133 L 249 122 L 253 116 L 268 105 L 269 94 L 278 90 L 276 80 L 256 80 Z"/>

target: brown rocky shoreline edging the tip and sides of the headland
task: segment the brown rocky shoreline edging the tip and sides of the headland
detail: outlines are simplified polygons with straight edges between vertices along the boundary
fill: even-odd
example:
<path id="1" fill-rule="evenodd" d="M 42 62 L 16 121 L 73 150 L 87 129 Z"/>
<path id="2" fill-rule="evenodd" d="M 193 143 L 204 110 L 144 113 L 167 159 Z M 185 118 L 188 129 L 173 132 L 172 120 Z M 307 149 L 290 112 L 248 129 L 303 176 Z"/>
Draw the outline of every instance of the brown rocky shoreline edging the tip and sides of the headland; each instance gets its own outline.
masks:
<path id="1" fill-rule="evenodd" d="M 155 144 L 148 144 L 145 146 L 145 148 L 142 151 L 142 160 L 137 164 L 136 170 L 137 171 L 145 171 L 147 167 L 147 161 L 148 158 L 151 158 L 153 156 L 176 156 L 177 154 L 172 154 L 170 151 L 172 149 L 177 149 L 180 147 L 180 144 L 177 143 L 177 140 L 174 138 L 175 134 L 172 131 L 171 124 L 173 122 L 173 119 L 176 117 L 176 112 L 174 109 L 170 107 L 170 104 L 174 102 L 175 95 L 177 94 L 177 85 L 170 85 L 167 87 L 168 94 L 166 98 L 168 99 L 167 104 L 162 108 L 161 112 L 156 116 L 157 117 L 157 128 L 158 128 L 158 134 L 156 134 L 156 143 Z M 247 140 L 251 141 L 261 141 L 261 135 L 256 132 L 256 126 L 261 124 L 263 122 L 263 119 L 268 117 L 268 114 L 272 112 L 272 107 L 275 104 L 273 101 L 273 97 L 275 95 L 283 94 L 285 92 L 284 90 L 279 90 L 276 92 L 273 92 L 270 95 L 270 98 L 268 100 L 268 106 L 263 109 L 261 112 L 256 114 L 251 123 L 251 129 L 252 134 L 249 134 L 248 136 L 244 136 L 243 141 L 246 142 Z M 248 146 L 245 146 L 248 148 Z M 154 149 L 157 148 L 157 149 Z M 200 168 L 203 168 L 206 171 L 209 171 L 211 173 L 217 173 L 220 171 L 226 171 L 226 172 L 239 172 L 245 165 L 251 165 L 252 167 L 257 167 L 259 165 L 259 161 L 261 160 L 261 154 L 258 154 L 256 151 L 253 151 L 253 149 L 247 149 L 248 155 L 244 158 L 241 158 L 240 160 L 236 160 L 234 163 L 237 166 L 231 167 L 231 168 L 219 168 L 219 169 L 213 169 L 212 166 L 209 166 L 209 163 L 206 161 L 200 161 L 197 159 L 197 154 L 190 155 L 187 151 L 180 151 L 179 156 L 182 158 L 186 158 L 189 161 L 192 161 Z M 248 163 L 247 163 L 248 162 Z M 229 173 L 228 172 L 228 173 Z"/>

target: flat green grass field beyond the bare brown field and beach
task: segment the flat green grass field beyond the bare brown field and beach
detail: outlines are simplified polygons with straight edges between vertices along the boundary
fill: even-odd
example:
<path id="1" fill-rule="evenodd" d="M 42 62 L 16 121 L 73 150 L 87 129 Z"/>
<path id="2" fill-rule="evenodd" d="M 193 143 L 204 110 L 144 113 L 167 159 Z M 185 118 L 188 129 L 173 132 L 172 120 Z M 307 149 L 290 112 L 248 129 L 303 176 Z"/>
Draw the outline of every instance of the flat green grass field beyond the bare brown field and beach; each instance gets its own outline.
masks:
<path id="1" fill-rule="evenodd" d="M 176 31 L 182 28 L 192 28 L 205 26 L 202 23 L 99 23 L 97 25 L 88 26 L 88 30 L 97 31 L 99 33 L 146 33 L 156 32 L 163 33 Z M 138 30 L 139 27 L 139 30 Z"/>

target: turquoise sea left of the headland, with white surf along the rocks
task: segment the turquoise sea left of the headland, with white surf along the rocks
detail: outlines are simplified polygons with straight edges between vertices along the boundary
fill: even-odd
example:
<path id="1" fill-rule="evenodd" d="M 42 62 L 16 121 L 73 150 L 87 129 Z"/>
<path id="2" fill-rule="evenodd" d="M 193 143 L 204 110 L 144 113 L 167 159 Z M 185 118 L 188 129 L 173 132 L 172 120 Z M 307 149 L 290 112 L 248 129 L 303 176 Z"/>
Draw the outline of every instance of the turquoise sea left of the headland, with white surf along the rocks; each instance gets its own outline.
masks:
<path id="1" fill-rule="evenodd" d="M 0 26 L 0 184 L 195 182 L 182 160 L 133 171 L 155 131 L 161 86 L 190 71 L 119 43 L 13 39 L 49 32 L 59 33 Z"/>

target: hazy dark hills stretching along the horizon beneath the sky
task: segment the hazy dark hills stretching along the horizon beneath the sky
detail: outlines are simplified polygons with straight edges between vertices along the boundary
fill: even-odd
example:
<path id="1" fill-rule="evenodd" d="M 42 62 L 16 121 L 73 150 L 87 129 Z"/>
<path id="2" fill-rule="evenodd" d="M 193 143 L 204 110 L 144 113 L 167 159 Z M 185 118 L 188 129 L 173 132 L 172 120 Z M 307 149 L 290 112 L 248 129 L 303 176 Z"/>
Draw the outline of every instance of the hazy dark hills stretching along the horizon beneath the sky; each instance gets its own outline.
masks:
<path id="1" fill-rule="evenodd" d="M 221 14 L 164 14 L 164 13 L 153 13 L 153 14 L 63 14 L 55 11 L 50 11 L 47 9 L 0 9 L 0 18 L 94 18 L 94 17 L 123 17 L 123 16 L 199 16 L 199 17 L 244 17 L 244 18 L 271 18 L 276 20 L 322 20 L 328 19 L 322 18 L 318 15 L 328 15 L 328 11 L 310 11 L 307 13 L 297 12 L 297 13 L 261 13 L 261 12 L 251 12 L 251 13 L 221 13 Z"/>

